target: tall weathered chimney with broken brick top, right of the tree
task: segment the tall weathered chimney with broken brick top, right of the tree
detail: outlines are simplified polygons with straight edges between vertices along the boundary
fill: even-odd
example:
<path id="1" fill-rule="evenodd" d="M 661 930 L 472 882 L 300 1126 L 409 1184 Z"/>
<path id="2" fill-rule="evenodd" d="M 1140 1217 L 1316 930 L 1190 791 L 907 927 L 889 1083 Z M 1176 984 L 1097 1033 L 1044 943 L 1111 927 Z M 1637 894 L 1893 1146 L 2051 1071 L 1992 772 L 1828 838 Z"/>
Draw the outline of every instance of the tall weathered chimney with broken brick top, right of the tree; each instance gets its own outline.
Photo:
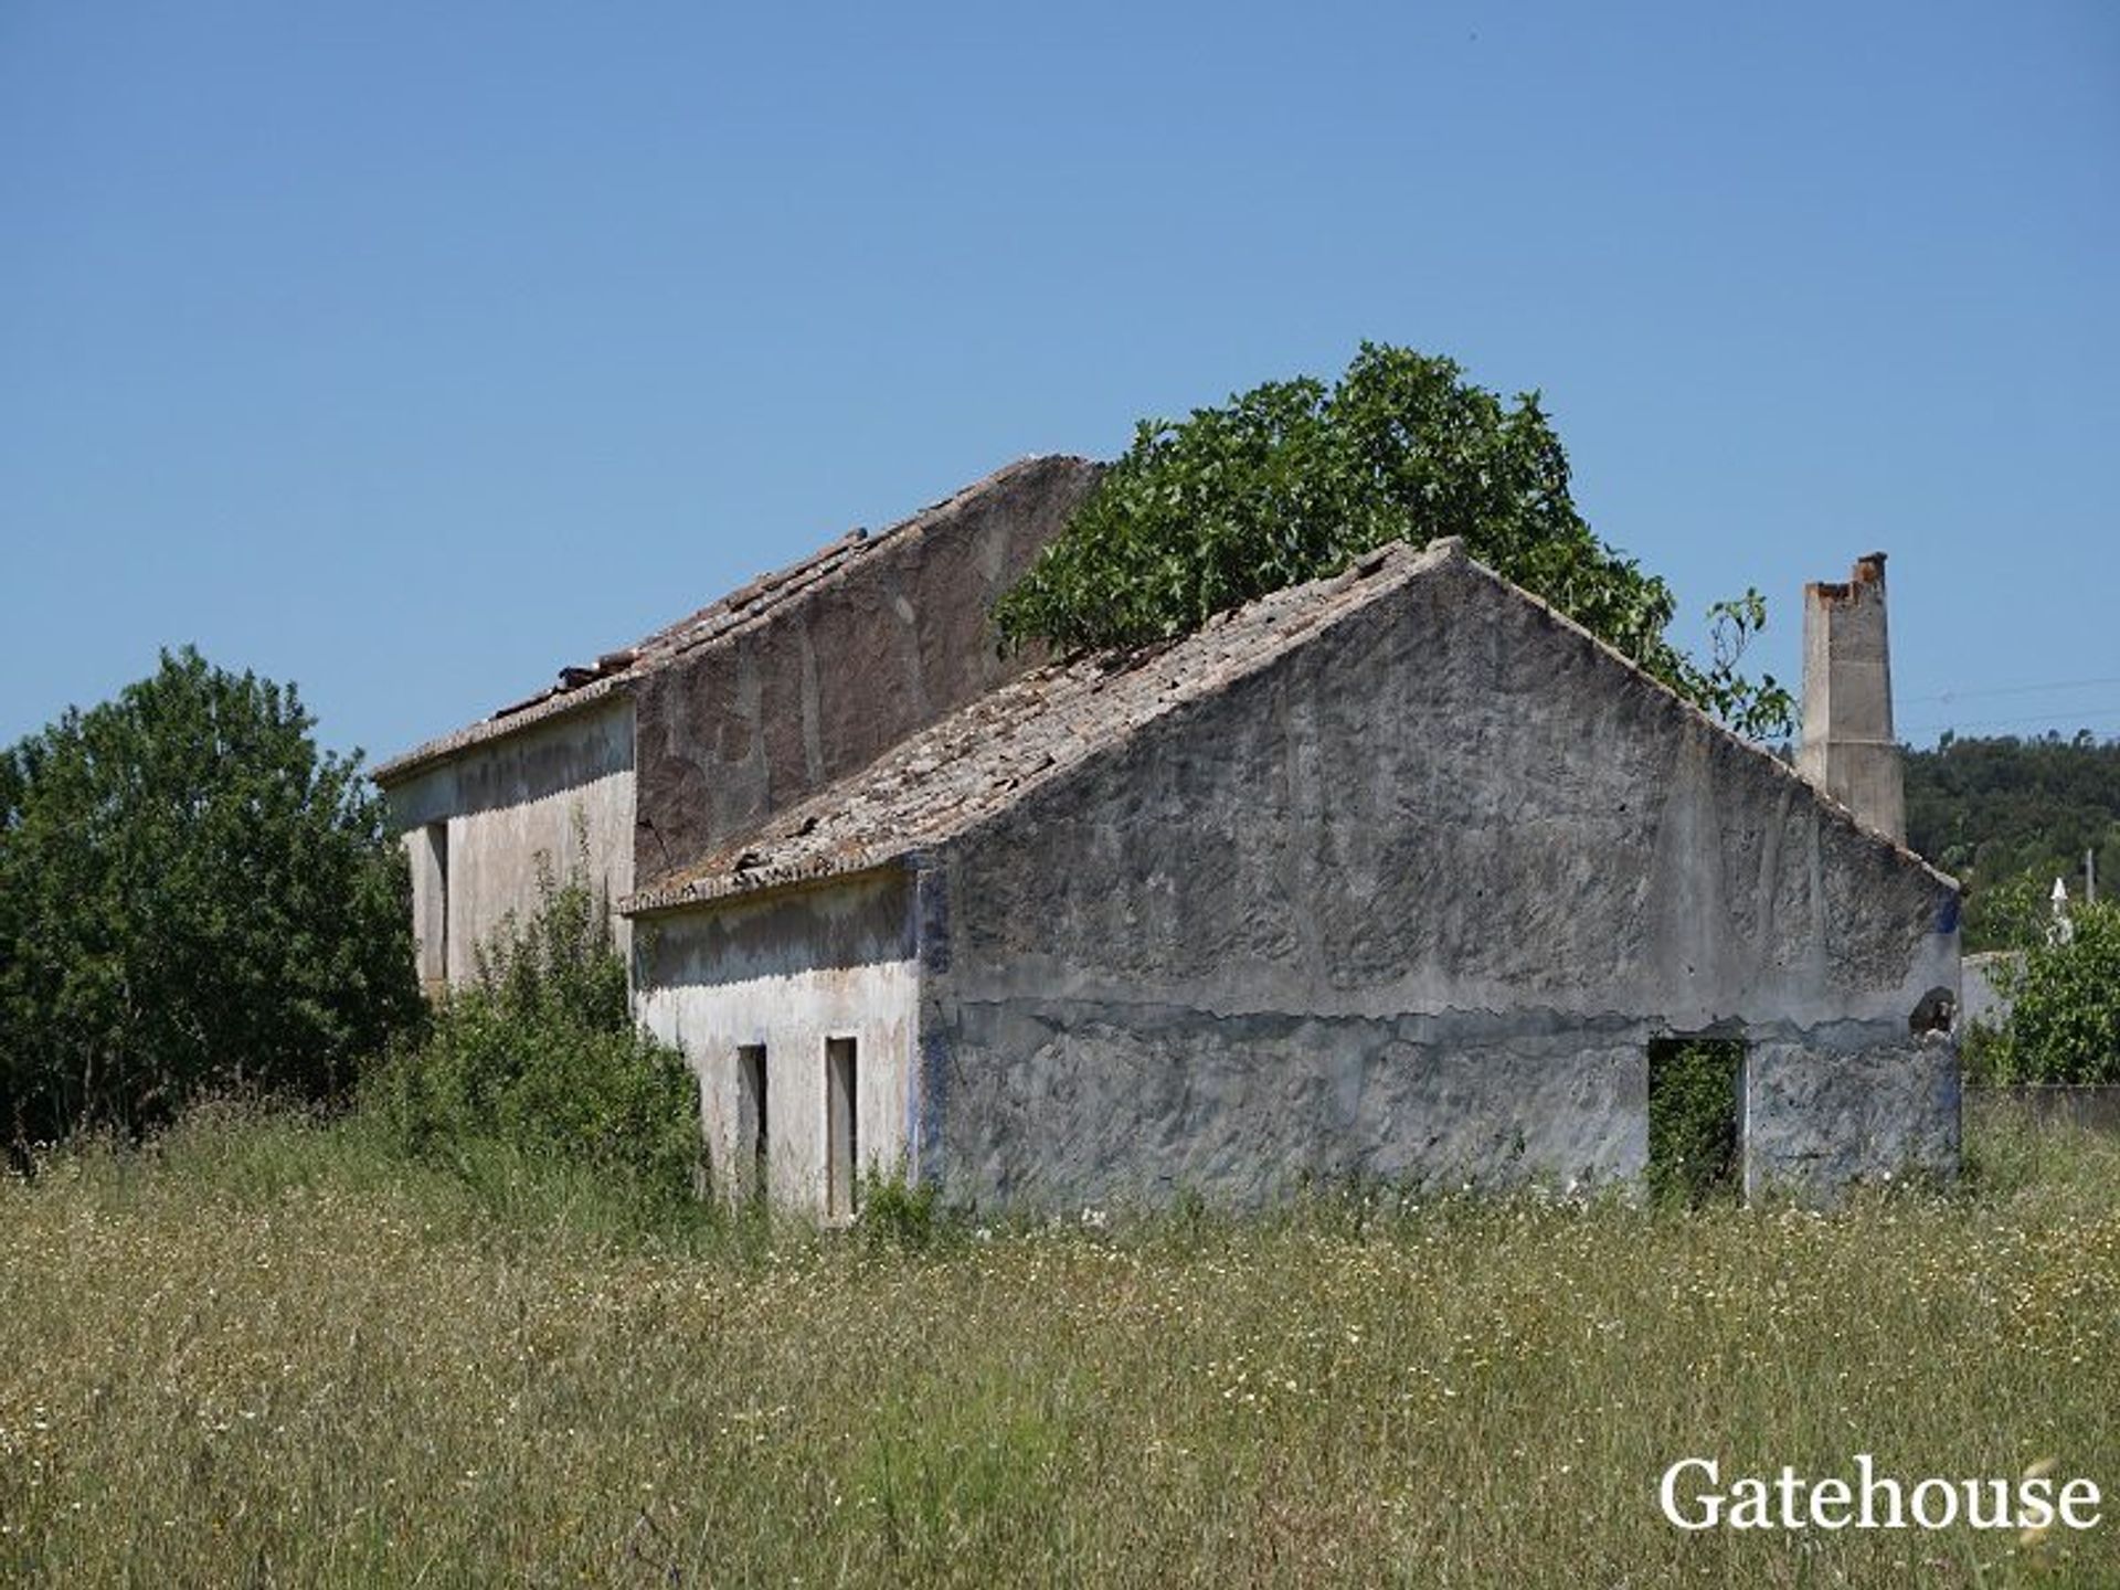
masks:
<path id="1" fill-rule="evenodd" d="M 1857 558 L 1847 585 L 1804 587 L 1804 738 L 1796 770 L 1866 829 L 1906 844 L 1880 551 Z"/>

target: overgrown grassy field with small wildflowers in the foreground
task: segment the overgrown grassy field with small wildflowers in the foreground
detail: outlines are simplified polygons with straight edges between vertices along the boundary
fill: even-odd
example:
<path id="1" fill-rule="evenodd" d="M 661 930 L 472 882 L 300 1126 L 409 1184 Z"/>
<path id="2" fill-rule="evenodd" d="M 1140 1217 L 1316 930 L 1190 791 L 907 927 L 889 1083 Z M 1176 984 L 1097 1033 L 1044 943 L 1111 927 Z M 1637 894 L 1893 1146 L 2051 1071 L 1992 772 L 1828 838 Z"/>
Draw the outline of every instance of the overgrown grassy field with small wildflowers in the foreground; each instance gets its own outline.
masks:
<path id="1" fill-rule="evenodd" d="M 2120 1488 L 2120 1145 L 1953 1194 L 1321 1200 L 918 1251 L 208 1115 L 0 1183 L 13 1584 L 2120 1584 L 2090 1533 L 1681 1535 L 1730 1473 Z"/>

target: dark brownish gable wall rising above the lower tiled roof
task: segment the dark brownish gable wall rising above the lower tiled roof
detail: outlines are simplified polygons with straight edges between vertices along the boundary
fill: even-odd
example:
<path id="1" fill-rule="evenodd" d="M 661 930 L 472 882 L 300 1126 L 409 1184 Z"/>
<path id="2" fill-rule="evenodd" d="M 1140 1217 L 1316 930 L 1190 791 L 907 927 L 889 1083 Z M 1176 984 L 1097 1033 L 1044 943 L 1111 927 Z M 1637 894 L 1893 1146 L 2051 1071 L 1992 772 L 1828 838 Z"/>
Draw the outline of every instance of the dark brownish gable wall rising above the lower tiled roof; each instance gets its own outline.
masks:
<path id="1" fill-rule="evenodd" d="M 757 625 L 636 687 L 640 886 L 1020 670 L 988 611 L 1096 483 L 1035 458 L 890 532 Z"/>

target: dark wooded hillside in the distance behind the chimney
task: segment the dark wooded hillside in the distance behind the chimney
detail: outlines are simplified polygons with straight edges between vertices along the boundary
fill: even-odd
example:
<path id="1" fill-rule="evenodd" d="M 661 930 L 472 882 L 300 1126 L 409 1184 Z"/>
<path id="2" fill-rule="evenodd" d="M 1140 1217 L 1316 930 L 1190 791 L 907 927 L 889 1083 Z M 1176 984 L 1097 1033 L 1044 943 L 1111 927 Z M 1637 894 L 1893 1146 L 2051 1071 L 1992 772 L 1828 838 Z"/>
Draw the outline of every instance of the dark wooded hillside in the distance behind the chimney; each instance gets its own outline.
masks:
<path id="1" fill-rule="evenodd" d="M 2031 876 L 2042 886 L 2084 886 L 2084 852 L 2097 848 L 2099 897 L 2120 897 L 2120 742 L 1955 740 L 1906 753 L 1906 837 L 1967 886 L 1965 948 L 2006 937 L 1997 884 Z"/>

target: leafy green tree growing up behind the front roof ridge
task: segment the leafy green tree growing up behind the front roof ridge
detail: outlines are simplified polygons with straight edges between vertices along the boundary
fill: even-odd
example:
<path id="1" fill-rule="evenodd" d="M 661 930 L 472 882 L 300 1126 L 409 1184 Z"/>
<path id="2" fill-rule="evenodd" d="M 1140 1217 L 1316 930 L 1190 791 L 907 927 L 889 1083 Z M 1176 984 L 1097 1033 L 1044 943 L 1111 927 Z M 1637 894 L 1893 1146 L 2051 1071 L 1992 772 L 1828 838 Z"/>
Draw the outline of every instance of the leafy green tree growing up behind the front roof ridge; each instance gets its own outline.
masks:
<path id="1" fill-rule="evenodd" d="M 1757 591 L 1711 611 L 1715 657 L 1671 644 L 1671 587 L 1598 541 L 1535 392 L 1505 405 L 1459 365 L 1363 343 L 1340 382 L 1268 382 L 1189 420 L 1143 420 L 1134 445 L 996 606 L 1005 644 L 1138 647 L 1331 575 L 1386 541 L 1463 536 L 1694 702 L 1785 734 L 1789 693 L 1736 672 L 1766 621 Z"/>

